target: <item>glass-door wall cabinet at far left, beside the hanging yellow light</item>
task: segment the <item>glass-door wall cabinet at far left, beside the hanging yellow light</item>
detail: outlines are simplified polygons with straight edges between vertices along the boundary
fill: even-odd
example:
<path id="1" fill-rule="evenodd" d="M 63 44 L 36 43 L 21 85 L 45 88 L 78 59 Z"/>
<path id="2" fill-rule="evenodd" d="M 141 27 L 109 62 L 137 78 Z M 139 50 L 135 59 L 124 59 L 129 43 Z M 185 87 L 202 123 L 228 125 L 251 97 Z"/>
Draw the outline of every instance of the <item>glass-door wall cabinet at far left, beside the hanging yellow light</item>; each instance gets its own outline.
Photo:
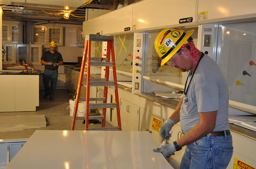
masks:
<path id="1" fill-rule="evenodd" d="M 20 24 L 3 24 L 3 43 L 21 43 L 22 25 Z"/>

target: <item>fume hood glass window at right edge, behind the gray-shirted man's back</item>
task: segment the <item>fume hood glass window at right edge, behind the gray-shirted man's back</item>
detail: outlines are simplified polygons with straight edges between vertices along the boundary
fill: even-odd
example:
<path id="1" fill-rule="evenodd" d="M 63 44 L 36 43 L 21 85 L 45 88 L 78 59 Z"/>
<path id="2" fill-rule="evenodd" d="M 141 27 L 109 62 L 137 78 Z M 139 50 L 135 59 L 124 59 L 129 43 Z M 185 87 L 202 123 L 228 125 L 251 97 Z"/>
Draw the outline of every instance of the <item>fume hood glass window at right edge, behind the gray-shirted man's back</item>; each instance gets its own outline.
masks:
<path id="1" fill-rule="evenodd" d="M 216 62 L 229 88 L 229 99 L 256 106 L 256 23 L 218 27 Z"/>

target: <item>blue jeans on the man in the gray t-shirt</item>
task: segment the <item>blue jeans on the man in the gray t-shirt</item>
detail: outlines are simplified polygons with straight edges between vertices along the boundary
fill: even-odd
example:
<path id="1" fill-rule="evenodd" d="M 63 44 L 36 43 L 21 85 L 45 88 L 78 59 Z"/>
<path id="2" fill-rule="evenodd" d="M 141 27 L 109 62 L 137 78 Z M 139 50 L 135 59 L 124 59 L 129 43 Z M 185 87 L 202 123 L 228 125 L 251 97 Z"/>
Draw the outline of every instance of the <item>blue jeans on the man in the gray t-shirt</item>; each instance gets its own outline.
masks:
<path id="1" fill-rule="evenodd" d="M 208 134 L 186 146 L 180 169 L 226 169 L 232 154 L 232 135 Z"/>

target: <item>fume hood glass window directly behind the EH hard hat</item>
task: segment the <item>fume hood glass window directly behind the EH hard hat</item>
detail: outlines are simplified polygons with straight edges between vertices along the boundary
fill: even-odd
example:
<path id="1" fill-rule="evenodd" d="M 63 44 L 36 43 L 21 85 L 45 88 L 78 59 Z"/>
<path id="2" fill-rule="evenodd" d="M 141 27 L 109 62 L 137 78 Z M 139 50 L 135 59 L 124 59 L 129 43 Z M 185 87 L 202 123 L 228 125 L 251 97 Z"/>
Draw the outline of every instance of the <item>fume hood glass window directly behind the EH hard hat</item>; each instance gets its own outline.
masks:
<path id="1" fill-rule="evenodd" d="M 195 30 L 192 34 L 195 47 L 197 47 L 198 42 L 198 27 L 195 28 L 180 28 L 184 31 Z M 167 62 L 161 66 L 161 59 L 159 58 L 155 48 L 154 41 L 159 34 L 159 30 L 147 31 L 146 33 L 146 51 L 145 51 L 145 62 L 144 62 L 144 76 L 160 79 L 166 82 L 172 82 L 179 85 L 185 85 L 186 82 L 186 72 L 181 72 L 177 68 L 172 68 Z"/>

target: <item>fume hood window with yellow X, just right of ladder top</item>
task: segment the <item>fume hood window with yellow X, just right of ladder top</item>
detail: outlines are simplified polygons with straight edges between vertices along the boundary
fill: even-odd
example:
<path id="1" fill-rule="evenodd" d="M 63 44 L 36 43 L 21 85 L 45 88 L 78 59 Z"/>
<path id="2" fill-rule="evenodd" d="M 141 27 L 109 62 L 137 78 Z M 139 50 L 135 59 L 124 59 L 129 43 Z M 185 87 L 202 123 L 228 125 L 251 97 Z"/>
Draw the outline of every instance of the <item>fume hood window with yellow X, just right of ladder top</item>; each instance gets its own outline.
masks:
<path id="1" fill-rule="evenodd" d="M 134 34 L 118 34 L 114 36 L 116 70 L 132 73 Z"/>

